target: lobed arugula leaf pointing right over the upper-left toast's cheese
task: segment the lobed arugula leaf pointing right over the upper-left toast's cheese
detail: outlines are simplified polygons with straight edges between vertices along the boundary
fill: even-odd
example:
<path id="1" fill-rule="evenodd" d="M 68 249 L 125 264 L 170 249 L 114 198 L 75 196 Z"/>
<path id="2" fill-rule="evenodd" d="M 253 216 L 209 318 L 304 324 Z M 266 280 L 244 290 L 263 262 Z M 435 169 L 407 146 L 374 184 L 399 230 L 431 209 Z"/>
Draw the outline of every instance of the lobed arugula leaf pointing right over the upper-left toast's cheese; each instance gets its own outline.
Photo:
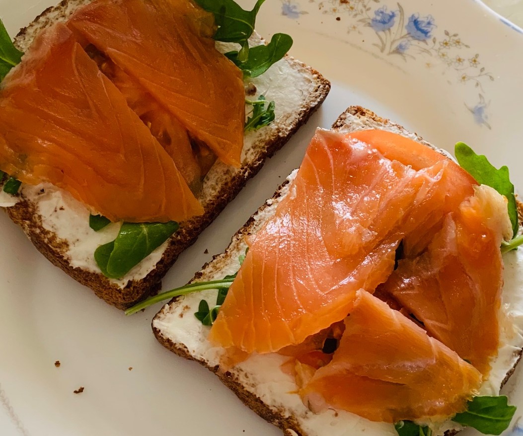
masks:
<path id="1" fill-rule="evenodd" d="M 278 62 L 292 47 L 292 38 L 285 33 L 272 35 L 267 45 L 257 45 L 249 50 L 248 59 L 240 60 L 240 53 L 232 51 L 225 53 L 234 64 L 243 71 L 243 78 L 257 77 L 265 73 L 269 67 Z"/>

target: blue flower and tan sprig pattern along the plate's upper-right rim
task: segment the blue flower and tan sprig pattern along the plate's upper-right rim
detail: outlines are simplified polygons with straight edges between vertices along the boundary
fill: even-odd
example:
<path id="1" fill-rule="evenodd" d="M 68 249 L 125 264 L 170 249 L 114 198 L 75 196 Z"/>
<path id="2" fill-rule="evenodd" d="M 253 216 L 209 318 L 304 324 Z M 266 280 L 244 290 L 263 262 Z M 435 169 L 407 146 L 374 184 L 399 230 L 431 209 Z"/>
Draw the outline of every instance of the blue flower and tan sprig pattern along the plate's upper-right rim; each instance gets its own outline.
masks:
<path id="1" fill-rule="evenodd" d="M 289 18 L 298 19 L 301 14 L 308 13 L 303 10 L 305 2 L 281 2 L 282 14 Z M 478 88 L 478 100 L 472 104 L 465 102 L 465 107 L 476 123 L 491 129 L 488 122 L 490 101 L 485 99 L 484 88 L 486 83 L 494 81 L 494 76 L 481 65 L 479 53 L 472 52 L 458 33 L 438 32 L 435 17 L 418 11 L 406 14 L 401 3 L 391 6 L 382 0 L 308 0 L 308 3 L 316 4 L 323 14 L 335 15 L 337 20 L 340 13 L 347 14 L 350 18 L 348 33 L 362 34 L 370 28 L 377 38 L 372 45 L 382 55 L 399 55 L 405 62 L 423 59 L 427 68 L 442 64 L 447 71 L 456 74 L 457 83 Z"/>

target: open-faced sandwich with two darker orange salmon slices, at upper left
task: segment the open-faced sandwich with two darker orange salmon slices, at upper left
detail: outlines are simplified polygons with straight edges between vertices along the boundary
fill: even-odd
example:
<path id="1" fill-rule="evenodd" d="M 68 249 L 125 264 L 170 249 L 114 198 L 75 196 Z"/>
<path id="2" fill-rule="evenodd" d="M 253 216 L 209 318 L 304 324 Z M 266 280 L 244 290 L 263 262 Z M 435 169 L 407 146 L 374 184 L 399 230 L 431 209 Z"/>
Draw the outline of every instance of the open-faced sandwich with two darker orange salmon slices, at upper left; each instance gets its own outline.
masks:
<path id="1" fill-rule="evenodd" d="M 0 29 L 0 203 L 106 302 L 156 291 L 326 97 L 288 35 L 256 35 L 262 3 L 66 0 Z"/>

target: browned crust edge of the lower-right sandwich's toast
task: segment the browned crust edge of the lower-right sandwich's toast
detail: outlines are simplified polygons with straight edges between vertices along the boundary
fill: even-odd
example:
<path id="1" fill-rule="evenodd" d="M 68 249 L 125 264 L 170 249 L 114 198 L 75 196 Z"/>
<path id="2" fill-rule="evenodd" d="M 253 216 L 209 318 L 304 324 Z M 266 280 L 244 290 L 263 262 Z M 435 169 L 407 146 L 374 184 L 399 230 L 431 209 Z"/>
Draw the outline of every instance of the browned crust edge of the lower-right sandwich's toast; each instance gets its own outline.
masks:
<path id="1" fill-rule="evenodd" d="M 333 124 L 333 129 L 343 129 L 344 127 L 347 127 L 347 117 L 355 116 L 360 120 L 366 120 L 369 121 L 369 124 L 371 124 L 372 128 L 386 128 L 388 130 L 395 130 L 397 132 L 403 132 L 404 134 L 410 134 L 406 129 L 404 129 L 401 125 L 394 123 L 388 119 L 384 119 L 379 117 L 374 112 L 362 108 L 360 106 L 351 106 L 349 107 Z M 430 145 L 426 141 L 422 139 L 417 134 L 410 134 L 411 137 L 414 136 L 415 139 L 423 144 L 429 145 L 430 147 L 435 148 L 436 150 L 439 150 L 438 148 L 434 147 L 433 145 Z M 446 153 L 445 153 L 446 154 Z M 276 191 L 275 195 L 272 197 L 272 201 L 268 201 L 263 206 L 261 206 L 258 211 L 249 218 L 249 220 L 245 223 L 245 225 L 238 230 L 238 232 L 232 237 L 231 244 L 229 247 L 225 250 L 224 253 L 214 256 L 213 259 L 203 265 L 202 269 L 196 273 L 195 277 L 191 280 L 192 281 L 204 281 L 209 280 L 209 277 L 212 276 L 212 273 L 215 271 L 219 271 L 220 269 L 224 268 L 225 265 L 228 263 L 228 259 L 231 259 L 232 257 L 237 257 L 238 253 L 241 253 L 241 251 L 238 249 L 238 246 L 241 244 L 241 242 L 245 239 L 245 236 L 249 234 L 255 233 L 258 228 L 263 224 L 263 222 L 256 220 L 257 214 L 263 214 L 264 211 L 270 207 L 270 205 L 274 202 L 274 200 L 278 200 L 282 196 L 282 190 L 287 185 L 288 181 L 283 183 L 278 190 Z M 520 211 L 523 211 L 523 204 L 519 203 L 518 207 L 520 208 Z M 194 355 L 192 355 L 187 347 L 184 345 L 184 343 L 173 341 L 172 339 L 168 338 L 160 329 L 155 327 L 155 320 L 160 319 L 169 311 L 169 305 L 174 303 L 176 299 L 171 300 L 167 305 L 165 305 L 158 314 L 153 318 L 152 320 L 152 329 L 154 332 L 154 335 L 158 342 L 160 342 L 165 348 L 169 349 L 170 351 L 173 351 L 177 355 L 184 357 L 189 360 L 195 360 L 198 363 L 200 363 L 203 366 L 206 366 L 207 369 L 209 369 L 211 372 L 217 374 L 220 377 L 220 380 L 229 387 L 238 398 L 240 398 L 243 403 L 251 408 L 256 414 L 258 414 L 261 418 L 265 419 L 266 421 L 275 424 L 277 427 L 282 429 L 284 433 L 289 435 L 297 434 L 298 436 L 307 436 L 307 433 L 303 431 L 303 429 L 300 427 L 299 419 L 297 416 L 294 416 L 292 412 L 289 410 L 278 410 L 274 409 L 270 406 L 268 406 L 266 403 L 264 403 L 263 400 L 261 400 L 258 396 L 253 394 L 251 391 L 249 391 L 245 386 L 243 386 L 240 382 L 238 382 L 234 375 L 231 374 L 231 372 L 225 372 L 223 373 L 220 371 L 219 366 L 211 365 L 209 362 L 198 359 Z M 192 313 L 190 311 L 187 311 L 186 314 L 189 316 L 192 316 Z M 519 360 L 521 359 L 521 353 L 522 350 L 519 350 L 518 352 L 518 361 L 515 363 L 514 367 L 511 368 L 502 384 L 501 387 L 505 385 L 510 375 L 514 372 L 515 367 Z M 291 430 L 291 431 L 289 431 Z M 294 433 L 293 433 L 294 432 Z M 458 430 L 448 430 L 445 432 L 445 436 L 453 436 L 455 434 L 459 433 Z"/>

